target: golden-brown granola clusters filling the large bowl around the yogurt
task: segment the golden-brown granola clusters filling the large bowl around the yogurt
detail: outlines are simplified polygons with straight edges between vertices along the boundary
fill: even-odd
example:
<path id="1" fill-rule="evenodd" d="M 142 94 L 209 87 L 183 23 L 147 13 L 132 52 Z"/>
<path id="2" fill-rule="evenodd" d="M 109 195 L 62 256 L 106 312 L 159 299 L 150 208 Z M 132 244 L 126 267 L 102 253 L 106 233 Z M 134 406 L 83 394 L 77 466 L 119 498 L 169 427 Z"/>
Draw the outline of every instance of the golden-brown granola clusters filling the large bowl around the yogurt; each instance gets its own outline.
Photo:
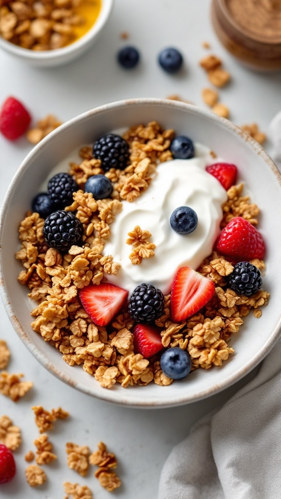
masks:
<path id="1" fill-rule="evenodd" d="M 206 68 L 210 62 L 205 62 Z M 211 67 L 219 67 L 218 62 L 212 61 Z M 68 365 L 80 365 L 104 388 L 111 388 L 115 383 L 126 388 L 152 381 L 161 386 L 172 382 L 162 373 L 158 357 L 148 360 L 134 352 L 135 323 L 127 312 L 119 313 L 107 327 L 98 326 L 82 308 L 77 291 L 90 283 L 106 280 L 106 274 L 118 272 L 120 265 L 114 262 L 114 255 L 106 254 L 110 224 L 120 212 L 122 200 L 133 202 L 152 181 L 157 163 L 171 159 L 169 146 L 173 135 L 172 130 L 161 130 L 156 122 L 130 128 L 124 134 L 130 147 L 129 164 L 123 171 L 106 172 L 113 183 L 112 197 L 98 201 L 84 193 L 83 187 L 89 176 L 102 173 L 100 161 L 92 157 L 89 147 L 80 150 L 80 164 L 70 164 L 70 174 L 80 189 L 73 194 L 73 203 L 66 210 L 75 212 L 83 225 L 81 247 L 72 246 L 65 254 L 47 248 L 42 236 L 44 221 L 36 213 L 27 213 L 19 227 L 21 248 L 15 256 L 24 269 L 18 280 L 28 286 L 28 296 L 38 303 L 31 312 L 33 330 L 53 345 Z M 243 196 L 242 190 L 243 185 L 239 184 L 227 191 L 221 228 L 237 216 L 257 224 L 258 207 Z M 148 241 L 151 237 L 148 231 L 136 226 L 128 236 L 124 244 L 132 246 L 132 263 L 139 264 L 142 258 L 153 256 L 155 245 Z M 263 261 L 255 259 L 252 263 L 261 271 L 264 269 Z M 163 314 L 155 322 L 161 328 L 163 347 L 178 346 L 187 350 L 192 369 L 220 366 L 227 360 L 233 353 L 228 345 L 230 335 L 238 331 L 250 310 L 255 317 L 260 316 L 260 306 L 268 300 L 269 295 L 263 290 L 248 298 L 230 290 L 226 276 L 232 269 L 231 263 L 215 252 L 201 263 L 197 270 L 214 282 L 216 292 L 200 313 L 186 321 L 171 321 L 170 297 L 165 297 Z M 46 415 L 41 408 L 36 408 L 35 414 L 43 418 L 42 431 L 45 431 L 53 415 Z M 72 457 L 77 449 L 68 450 L 71 466 L 81 465 L 81 470 L 86 471 L 82 465 L 87 458 L 83 454 L 87 453 L 86 449 L 82 449 L 76 461 L 72 461 Z"/>

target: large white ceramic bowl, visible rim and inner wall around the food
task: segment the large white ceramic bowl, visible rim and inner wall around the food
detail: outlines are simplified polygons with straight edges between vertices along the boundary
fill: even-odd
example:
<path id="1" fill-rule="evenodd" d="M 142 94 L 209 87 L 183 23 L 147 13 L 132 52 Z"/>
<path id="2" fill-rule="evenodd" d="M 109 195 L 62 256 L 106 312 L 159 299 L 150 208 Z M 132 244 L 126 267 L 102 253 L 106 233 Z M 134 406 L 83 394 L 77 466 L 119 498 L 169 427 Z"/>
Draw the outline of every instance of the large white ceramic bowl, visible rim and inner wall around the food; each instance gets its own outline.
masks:
<path id="1" fill-rule="evenodd" d="M 30 200 L 50 171 L 73 150 L 93 143 L 102 134 L 138 123 L 157 120 L 164 128 L 186 134 L 205 144 L 217 155 L 239 168 L 252 200 L 261 210 L 259 231 L 266 241 L 264 289 L 270 299 L 256 319 L 249 314 L 233 335 L 235 353 L 221 368 L 197 369 L 184 380 L 161 387 L 153 382 L 145 387 L 101 388 L 81 367 L 70 367 L 60 353 L 30 327 L 34 302 L 27 289 L 17 282 L 22 269 L 15 260 L 19 248 L 17 228 L 30 209 Z M 107 104 L 88 111 L 53 131 L 29 153 L 19 167 L 6 194 L 1 211 L 1 294 L 6 311 L 27 348 L 55 376 L 94 397 L 135 407 L 171 407 L 194 402 L 217 393 L 245 376 L 273 347 L 281 324 L 281 176 L 262 147 L 241 129 L 215 114 L 192 105 L 162 99 L 135 99 Z"/>

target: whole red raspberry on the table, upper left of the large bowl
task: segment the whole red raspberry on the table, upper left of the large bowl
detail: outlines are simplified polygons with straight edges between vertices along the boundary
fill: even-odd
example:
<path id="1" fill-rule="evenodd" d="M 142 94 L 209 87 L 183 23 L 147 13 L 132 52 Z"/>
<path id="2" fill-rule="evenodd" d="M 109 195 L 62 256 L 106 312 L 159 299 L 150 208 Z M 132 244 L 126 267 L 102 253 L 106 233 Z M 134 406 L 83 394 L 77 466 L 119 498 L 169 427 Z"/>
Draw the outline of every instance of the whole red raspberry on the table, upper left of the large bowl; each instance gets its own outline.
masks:
<path id="1" fill-rule="evenodd" d="M 8 97 L 0 110 L 0 132 L 8 140 L 18 139 L 23 135 L 31 121 L 25 107 L 14 97 Z"/>

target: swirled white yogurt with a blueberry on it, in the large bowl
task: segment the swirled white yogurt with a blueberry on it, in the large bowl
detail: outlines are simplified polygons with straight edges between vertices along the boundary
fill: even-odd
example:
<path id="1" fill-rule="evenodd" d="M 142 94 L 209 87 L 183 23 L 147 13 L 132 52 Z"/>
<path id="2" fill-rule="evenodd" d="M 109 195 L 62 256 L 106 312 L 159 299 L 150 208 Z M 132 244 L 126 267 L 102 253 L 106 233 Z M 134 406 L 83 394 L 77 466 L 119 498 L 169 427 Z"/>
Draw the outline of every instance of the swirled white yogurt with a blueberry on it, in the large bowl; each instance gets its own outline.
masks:
<path id="1" fill-rule="evenodd" d="M 215 162 L 218 161 L 217 158 Z M 109 282 L 129 293 L 138 284 L 149 282 L 167 294 L 180 267 L 196 269 L 211 253 L 219 234 L 221 205 L 227 199 L 225 189 L 205 171 L 211 163 L 214 160 L 209 150 L 196 144 L 194 158 L 159 164 L 147 190 L 132 203 L 122 202 L 103 251 L 121 264 L 115 275 L 106 275 Z M 198 217 L 196 229 L 184 236 L 174 232 L 169 223 L 170 215 L 179 206 L 189 206 Z M 126 240 L 137 225 L 151 233 L 149 242 L 156 247 L 153 257 L 133 265 L 129 259 L 132 247 Z"/>

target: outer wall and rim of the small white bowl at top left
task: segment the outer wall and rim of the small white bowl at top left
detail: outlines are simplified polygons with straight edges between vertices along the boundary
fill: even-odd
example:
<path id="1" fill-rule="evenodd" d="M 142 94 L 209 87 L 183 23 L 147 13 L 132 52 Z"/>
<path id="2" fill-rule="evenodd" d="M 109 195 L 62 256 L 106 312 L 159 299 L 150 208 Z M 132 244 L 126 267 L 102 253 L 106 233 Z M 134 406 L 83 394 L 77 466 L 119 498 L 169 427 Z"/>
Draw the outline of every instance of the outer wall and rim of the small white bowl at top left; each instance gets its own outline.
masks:
<path id="1" fill-rule="evenodd" d="M 113 0 L 102 0 L 100 12 L 93 26 L 81 38 L 65 47 L 36 51 L 19 47 L 0 36 L 0 48 L 32 66 L 51 67 L 65 64 L 76 59 L 93 45 L 109 18 L 112 6 Z"/>

